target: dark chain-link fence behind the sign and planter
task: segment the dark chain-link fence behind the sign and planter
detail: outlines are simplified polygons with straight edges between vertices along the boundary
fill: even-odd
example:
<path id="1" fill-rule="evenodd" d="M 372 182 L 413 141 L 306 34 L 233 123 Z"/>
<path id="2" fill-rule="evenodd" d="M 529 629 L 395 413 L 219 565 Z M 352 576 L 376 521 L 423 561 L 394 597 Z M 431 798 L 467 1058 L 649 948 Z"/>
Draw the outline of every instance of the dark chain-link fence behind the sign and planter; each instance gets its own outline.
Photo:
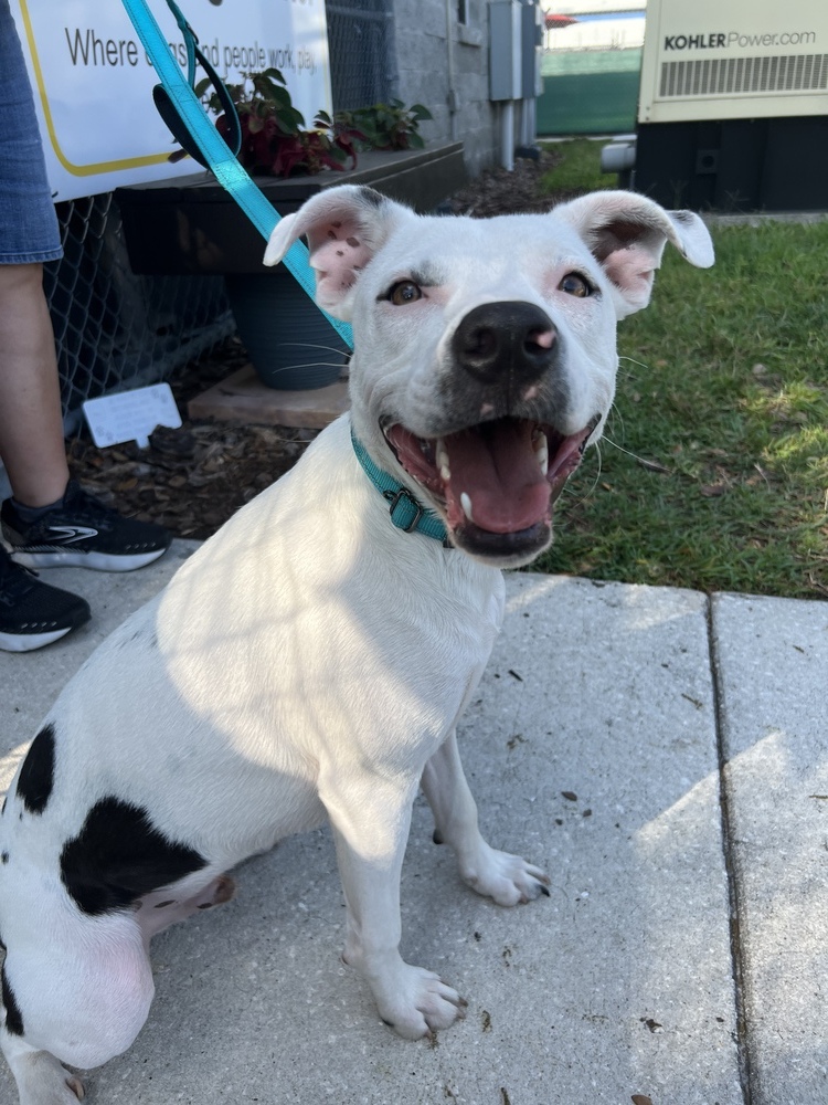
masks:
<path id="1" fill-rule="evenodd" d="M 336 110 L 388 101 L 392 0 L 327 8 Z M 235 330 L 221 276 L 136 276 L 112 192 L 59 203 L 64 256 L 44 266 L 67 431 L 86 399 L 169 379 Z"/>

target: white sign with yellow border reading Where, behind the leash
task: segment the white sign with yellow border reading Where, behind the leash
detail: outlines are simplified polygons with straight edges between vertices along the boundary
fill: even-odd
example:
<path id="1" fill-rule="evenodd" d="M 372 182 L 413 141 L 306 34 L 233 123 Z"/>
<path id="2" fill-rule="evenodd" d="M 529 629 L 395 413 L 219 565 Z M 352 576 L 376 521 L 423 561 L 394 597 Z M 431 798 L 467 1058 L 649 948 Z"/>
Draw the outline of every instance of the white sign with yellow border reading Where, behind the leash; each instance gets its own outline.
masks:
<path id="1" fill-rule="evenodd" d="M 150 0 L 187 71 L 166 0 Z M 331 113 L 325 0 L 182 0 L 202 53 L 222 80 L 274 67 L 312 124 Z M 34 92 L 55 200 L 202 172 L 178 149 L 152 102 L 155 70 L 119 0 L 11 0 Z M 199 71 L 198 80 L 204 74 Z"/>

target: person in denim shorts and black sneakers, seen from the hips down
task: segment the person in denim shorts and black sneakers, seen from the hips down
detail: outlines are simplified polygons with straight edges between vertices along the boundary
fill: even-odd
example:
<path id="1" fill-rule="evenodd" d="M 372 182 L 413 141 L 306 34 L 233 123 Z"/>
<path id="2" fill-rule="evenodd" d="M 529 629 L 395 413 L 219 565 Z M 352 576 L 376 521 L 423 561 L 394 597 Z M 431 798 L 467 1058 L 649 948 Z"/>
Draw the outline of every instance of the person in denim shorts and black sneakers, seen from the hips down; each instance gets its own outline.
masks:
<path id="1" fill-rule="evenodd" d="M 32 567 L 131 571 L 170 535 L 121 518 L 70 480 L 43 263 L 62 256 L 34 99 L 9 0 L 0 0 L 0 649 L 28 652 L 89 618 L 88 604 Z M 9 547 L 8 551 L 6 546 Z"/>

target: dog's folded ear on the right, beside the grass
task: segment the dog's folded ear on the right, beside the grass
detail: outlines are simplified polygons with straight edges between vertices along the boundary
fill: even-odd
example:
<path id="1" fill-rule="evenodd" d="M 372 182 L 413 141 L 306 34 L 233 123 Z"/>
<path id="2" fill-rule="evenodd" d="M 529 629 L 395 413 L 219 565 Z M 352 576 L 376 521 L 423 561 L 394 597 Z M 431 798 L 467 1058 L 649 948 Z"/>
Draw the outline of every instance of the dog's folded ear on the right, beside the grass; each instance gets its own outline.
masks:
<path id="1" fill-rule="evenodd" d="M 649 303 L 667 242 L 699 269 L 713 264 L 713 243 L 698 214 L 665 211 L 636 192 L 591 192 L 554 213 L 574 227 L 612 281 L 618 318 Z"/>

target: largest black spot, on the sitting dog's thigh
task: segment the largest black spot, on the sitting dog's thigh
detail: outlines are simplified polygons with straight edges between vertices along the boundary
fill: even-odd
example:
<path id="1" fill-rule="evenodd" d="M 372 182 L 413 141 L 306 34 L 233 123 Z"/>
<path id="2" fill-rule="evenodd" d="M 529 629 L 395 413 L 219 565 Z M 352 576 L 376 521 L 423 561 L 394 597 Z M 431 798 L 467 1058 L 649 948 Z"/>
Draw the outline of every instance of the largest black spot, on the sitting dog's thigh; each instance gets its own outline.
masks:
<path id="1" fill-rule="evenodd" d="M 130 906 L 205 865 L 194 849 L 164 836 L 145 809 L 117 798 L 96 802 L 61 852 L 63 884 L 91 916 Z"/>

